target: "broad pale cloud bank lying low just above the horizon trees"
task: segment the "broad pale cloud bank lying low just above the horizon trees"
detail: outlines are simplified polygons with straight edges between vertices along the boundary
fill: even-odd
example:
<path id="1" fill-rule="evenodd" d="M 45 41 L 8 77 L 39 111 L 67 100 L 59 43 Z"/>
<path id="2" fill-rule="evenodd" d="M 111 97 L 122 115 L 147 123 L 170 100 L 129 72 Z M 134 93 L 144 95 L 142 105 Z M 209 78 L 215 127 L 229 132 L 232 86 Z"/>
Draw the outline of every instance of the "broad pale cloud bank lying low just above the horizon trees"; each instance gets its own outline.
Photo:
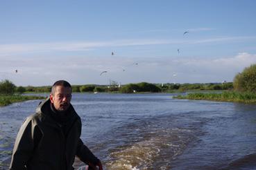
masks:
<path id="1" fill-rule="evenodd" d="M 135 62 L 138 65 L 135 65 Z M 122 84 L 222 82 L 232 81 L 237 73 L 251 64 L 256 64 L 256 55 L 249 53 L 215 59 L 51 57 L 49 60 L 44 57 L 31 57 L 24 62 L 21 57 L 6 57 L 4 62 L 0 63 L 0 79 L 10 79 L 18 86 L 51 85 L 57 79 L 67 79 L 71 84 L 108 84 L 110 79 Z M 16 74 L 15 69 L 18 69 L 19 73 Z M 107 70 L 108 73 L 101 76 L 103 70 Z"/>

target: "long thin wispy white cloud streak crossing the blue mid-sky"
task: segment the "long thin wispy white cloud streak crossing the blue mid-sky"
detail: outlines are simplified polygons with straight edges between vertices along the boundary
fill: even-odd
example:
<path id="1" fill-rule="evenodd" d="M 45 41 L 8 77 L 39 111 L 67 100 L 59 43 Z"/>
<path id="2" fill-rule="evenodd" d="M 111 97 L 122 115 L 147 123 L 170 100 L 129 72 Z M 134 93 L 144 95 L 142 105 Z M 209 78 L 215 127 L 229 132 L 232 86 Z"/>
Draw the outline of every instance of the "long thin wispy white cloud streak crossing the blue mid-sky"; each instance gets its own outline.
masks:
<path id="1" fill-rule="evenodd" d="M 256 39 L 256 37 L 214 37 L 208 39 L 120 39 L 114 41 L 71 41 L 31 44 L 0 44 L 1 55 L 24 53 L 83 51 L 103 47 L 151 46 L 161 44 L 206 44 L 216 42 L 237 42 Z"/>

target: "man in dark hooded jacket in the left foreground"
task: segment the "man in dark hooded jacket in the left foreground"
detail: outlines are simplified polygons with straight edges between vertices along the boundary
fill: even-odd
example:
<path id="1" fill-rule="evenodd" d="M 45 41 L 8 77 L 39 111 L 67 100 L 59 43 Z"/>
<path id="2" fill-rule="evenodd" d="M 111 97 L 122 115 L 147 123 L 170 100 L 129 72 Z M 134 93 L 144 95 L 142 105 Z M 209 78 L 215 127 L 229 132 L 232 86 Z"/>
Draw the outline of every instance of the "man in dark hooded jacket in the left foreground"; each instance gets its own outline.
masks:
<path id="1" fill-rule="evenodd" d="M 71 102 L 71 85 L 55 82 L 50 97 L 26 118 L 17 135 L 10 169 L 71 170 L 75 155 L 89 169 L 101 161 L 80 140 L 81 120 Z"/>

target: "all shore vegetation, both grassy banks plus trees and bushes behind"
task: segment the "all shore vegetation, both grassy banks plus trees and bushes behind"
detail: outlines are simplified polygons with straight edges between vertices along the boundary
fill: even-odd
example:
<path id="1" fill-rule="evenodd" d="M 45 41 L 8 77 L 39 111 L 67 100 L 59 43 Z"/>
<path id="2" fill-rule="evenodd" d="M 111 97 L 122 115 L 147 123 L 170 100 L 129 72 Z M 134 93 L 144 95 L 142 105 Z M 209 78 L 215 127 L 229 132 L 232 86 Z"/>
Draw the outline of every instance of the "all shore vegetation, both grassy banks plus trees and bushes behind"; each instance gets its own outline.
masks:
<path id="1" fill-rule="evenodd" d="M 72 90 L 75 93 L 180 93 L 193 91 L 193 93 L 187 93 L 187 95 L 177 95 L 175 98 L 256 104 L 256 64 L 244 68 L 243 72 L 234 77 L 233 82 L 223 81 L 207 84 L 151 84 L 140 82 L 121 85 L 110 81 L 108 85 L 73 85 Z M 50 93 L 50 91 L 51 86 L 15 86 L 6 79 L 0 82 L 0 106 L 44 98 L 26 96 L 22 93 Z"/>

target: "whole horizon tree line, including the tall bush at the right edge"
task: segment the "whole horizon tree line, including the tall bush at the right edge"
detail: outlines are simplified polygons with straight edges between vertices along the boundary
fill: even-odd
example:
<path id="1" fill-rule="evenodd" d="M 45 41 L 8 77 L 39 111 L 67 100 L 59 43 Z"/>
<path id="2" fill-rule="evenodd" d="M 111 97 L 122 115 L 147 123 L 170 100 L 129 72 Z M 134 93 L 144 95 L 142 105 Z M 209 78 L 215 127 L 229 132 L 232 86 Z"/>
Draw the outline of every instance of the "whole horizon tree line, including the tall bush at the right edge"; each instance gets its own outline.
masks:
<path id="1" fill-rule="evenodd" d="M 209 91 L 230 90 L 239 92 L 256 93 L 256 64 L 253 64 L 238 73 L 233 82 L 208 83 L 208 84 L 152 84 L 140 82 L 137 84 L 124 84 L 120 86 L 117 82 L 109 85 L 85 84 L 73 85 L 72 91 L 83 92 L 106 92 L 106 93 L 171 93 L 174 91 Z M 49 93 L 51 86 L 15 86 L 10 80 L 0 82 L 0 95 L 12 95 L 14 93 Z"/>

